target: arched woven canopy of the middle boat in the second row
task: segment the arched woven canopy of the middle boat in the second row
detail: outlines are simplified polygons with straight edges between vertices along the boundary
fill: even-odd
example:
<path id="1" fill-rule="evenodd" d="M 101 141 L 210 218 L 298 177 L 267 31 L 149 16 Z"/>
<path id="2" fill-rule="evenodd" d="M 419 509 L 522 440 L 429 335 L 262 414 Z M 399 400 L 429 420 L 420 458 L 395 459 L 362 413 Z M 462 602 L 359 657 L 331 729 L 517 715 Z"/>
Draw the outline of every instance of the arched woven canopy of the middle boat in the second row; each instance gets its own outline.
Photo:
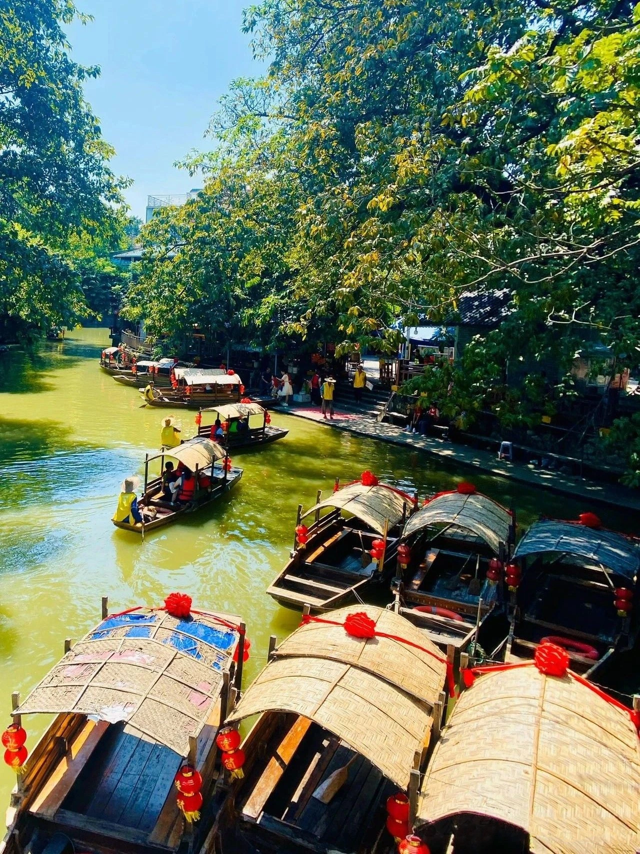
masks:
<path id="1" fill-rule="evenodd" d="M 498 553 L 500 544 L 509 542 L 513 518 L 510 513 L 480 493 L 445 493 L 433 498 L 404 525 L 403 538 L 436 525 L 471 531 Z"/>

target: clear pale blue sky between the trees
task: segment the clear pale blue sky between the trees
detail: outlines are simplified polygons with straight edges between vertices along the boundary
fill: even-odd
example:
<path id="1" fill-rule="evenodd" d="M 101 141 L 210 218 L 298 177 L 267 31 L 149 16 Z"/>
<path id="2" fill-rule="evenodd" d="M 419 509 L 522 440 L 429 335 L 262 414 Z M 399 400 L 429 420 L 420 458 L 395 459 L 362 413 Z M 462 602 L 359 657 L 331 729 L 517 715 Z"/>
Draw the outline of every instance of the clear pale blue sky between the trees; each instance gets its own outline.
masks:
<path id="1" fill-rule="evenodd" d="M 133 178 L 132 213 L 147 196 L 186 193 L 200 178 L 173 167 L 190 149 L 210 149 L 203 134 L 230 80 L 258 76 L 241 32 L 249 0 L 78 0 L 93 15 L 68 29 L 73 59 L 99 65 L 84 94 L 117 151 L 113 170 Z"/>

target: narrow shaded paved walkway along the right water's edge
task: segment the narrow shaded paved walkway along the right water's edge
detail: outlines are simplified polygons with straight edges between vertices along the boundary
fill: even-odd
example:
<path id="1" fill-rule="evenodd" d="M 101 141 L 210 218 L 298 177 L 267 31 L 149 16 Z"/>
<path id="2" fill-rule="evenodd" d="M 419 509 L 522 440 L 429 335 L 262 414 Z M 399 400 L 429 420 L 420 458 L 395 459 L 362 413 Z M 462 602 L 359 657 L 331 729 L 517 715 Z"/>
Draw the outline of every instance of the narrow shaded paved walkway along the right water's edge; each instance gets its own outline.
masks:
<path id="1" fill-rule="evenodd" d="M 317 407 L 308 404 L 293 405 L 288 410 L 288 415 L 298 418 L 307 418 L 317 424 L 325 424 L 329 429 L 346 430 L 357 436 L 365 436 L 369 439 L 377 439 L 380 442 L 390 442 L 393 445 L 402 445 L 412 451 L 419 451 L 437 457 L 440 461 L 449 461 L 455 465 L 466 465 L 479 471 L 529 486 L 538 486 L 551 489 L 553 492 L 571 495 L 572 498 L 584 498 L 585 501 L 597 501 L 609 506 L 625 507 L 627 510 L 640 512 L 640 493 L 617 486 L 612 483 L 596 483 L 584 480 L 580 477 L 562 475 L 557 471 L 545 471 L 532 469 L 521 463 L 509 463 L 506 460 L 498 460 L 497 454 L 491 451 L 483 451 L 467 445 L 455 442 L 446 442 L 434 436 L 419 436 L 415 433 L 405 433 L 402 428 L 394 424 L 385 424 L 364 415 L 361 412 L 335 412 L 333 421 L 324 420 L 322 413 Z"/>

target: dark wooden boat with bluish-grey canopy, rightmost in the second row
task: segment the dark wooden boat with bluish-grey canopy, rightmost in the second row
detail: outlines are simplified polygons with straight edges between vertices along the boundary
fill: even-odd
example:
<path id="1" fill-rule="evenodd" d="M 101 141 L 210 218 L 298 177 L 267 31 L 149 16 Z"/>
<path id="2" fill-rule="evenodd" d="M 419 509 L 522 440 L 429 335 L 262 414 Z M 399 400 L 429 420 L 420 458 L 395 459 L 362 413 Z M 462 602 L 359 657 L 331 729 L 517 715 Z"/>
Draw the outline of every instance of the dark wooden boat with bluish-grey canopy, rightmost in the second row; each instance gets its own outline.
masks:
<path id="1" fill-rule="evenodd" d="M 591 520 L 591 514 L 584 515 Z M 521 582 L 514 593 L 506 660 L 531 658 L 538 643 L 552 636 L 566 646 L 573 670 L 607 684 L 615 653 L 637 637 L 637 541 L 547 519 L 532 524 L 513 559 Z"/>

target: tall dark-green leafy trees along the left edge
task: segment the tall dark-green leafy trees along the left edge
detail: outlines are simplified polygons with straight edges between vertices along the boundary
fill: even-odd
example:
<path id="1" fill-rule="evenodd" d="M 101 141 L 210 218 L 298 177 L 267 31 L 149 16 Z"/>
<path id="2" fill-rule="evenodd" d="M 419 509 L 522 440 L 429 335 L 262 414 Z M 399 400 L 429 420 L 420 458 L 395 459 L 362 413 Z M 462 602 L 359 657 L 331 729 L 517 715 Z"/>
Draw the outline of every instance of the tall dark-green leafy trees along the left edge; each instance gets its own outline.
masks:
<path id="1" fill-rule="evenodd" d="M 101 313 L 122 275 L 125 182 L 84 101 L 99 73 L 69 56 L 61 0 L 15 0 L 0 10 L 0 342 Z M 117 281 L 116 281 L 117 280 Z"/>

